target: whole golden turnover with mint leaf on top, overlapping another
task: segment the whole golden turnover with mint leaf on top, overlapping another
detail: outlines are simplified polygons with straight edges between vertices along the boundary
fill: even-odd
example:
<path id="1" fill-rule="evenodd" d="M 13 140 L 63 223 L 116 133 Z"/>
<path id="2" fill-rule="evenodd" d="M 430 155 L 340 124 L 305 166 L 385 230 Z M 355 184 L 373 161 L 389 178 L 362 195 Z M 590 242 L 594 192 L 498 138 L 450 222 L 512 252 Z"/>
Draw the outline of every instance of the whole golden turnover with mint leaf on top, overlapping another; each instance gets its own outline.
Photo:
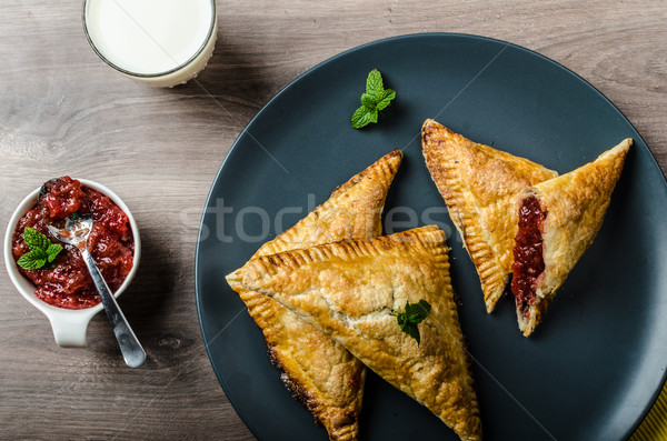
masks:
<path id="1" fill-rule="evenodd" d="M 424 227 L 252 259 L 229 279 L 272 297 L 426 405 L 462 440 L 480 440 L 469 357 L 449 279 L 445 233 Z M 395 310 L 426 300 L 421 342 Z"/>

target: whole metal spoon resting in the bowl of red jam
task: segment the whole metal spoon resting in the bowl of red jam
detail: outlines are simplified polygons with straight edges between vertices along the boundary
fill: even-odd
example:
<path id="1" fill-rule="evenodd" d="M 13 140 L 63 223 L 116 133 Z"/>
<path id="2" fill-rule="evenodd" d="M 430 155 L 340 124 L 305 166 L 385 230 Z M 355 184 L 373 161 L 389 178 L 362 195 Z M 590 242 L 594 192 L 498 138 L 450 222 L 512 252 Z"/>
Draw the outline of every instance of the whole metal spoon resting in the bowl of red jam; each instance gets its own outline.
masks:
<path id="1" fill-rule="evenodd" d="M 81 252 L 83 262 L 86 262 L 94 287 L 102 299 L 102 305 L 113 328 L 113 334 L 116 335 L 116 340 L 118 340 L 122 357 L 130 368 L 139 368 L 146 361 L 146 352 L 118 307 L 116 298 L 111 293 L 111 290 L 109 290 L 100 270 L 94 264 L 92 255 L 88 251 L 87 243 L 88 237 L 92 231 L 92 223 L 93 221 L 90 216 L 81 216 L 77 219 L 72 219 L 70 216 L 64 220 L 64 228 L 59 229 L 53 225 L 47 225 L 47 228 L 56 239 L 74 245 Z"/>

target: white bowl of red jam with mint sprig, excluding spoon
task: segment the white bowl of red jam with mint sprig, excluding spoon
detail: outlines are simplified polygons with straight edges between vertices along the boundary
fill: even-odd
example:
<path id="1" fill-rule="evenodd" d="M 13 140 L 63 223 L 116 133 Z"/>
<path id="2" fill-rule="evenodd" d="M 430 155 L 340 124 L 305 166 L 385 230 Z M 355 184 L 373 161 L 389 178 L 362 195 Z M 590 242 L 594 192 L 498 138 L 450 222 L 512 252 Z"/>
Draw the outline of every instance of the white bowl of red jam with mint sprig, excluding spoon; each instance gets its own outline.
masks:
<path id="1" fill-rule="evenodd" d="M 39 199 L 39 204 L 38 204 Z M 118 298 L 137 272 L 139 229 L 127 206 L 108 188 L 62 177 L 31 192 L 14 211 L 4 238 L 4 261 L 21 294 L 42 311 L 61 347 L 84 347 L 100 298 L 79 251 L 47 229 L 67 217 L 90 214 L 88 250 Z"/>

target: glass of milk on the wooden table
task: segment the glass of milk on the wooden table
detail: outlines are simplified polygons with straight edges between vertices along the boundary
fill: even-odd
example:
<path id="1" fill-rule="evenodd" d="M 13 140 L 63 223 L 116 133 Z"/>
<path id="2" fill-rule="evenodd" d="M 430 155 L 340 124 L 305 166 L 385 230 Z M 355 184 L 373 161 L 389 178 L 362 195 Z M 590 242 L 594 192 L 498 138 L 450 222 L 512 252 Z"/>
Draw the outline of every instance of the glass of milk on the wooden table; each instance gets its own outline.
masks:
<path id="1" fill-rule="evenodd" d="M 213 53 L 215 0 L 84 0 L 83 29 L 97 54 L 148 84 L 197 77 Z"/>

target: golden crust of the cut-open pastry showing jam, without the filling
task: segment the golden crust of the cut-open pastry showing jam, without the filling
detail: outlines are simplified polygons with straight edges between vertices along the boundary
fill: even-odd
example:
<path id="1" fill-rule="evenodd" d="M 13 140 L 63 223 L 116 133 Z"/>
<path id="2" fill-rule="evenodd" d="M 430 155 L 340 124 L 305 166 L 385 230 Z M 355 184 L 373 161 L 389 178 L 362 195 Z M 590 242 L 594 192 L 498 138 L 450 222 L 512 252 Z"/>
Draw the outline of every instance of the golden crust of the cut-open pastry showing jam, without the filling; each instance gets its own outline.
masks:
<path id="1" fill-rule="evenodd" d="M 626 139 L 595 161 L 527 188 L 517 198 L 512 210 L 515 219 L 519 204 L 529 197 L 537 197 L 542 212 L 547 213 L 542 231 L 545 271 L 538 279 L 537 295 L 527 312 L 517 307 L 524 335 L 530 335 L 540 323 L 556 291 L 597 235 L 631 144 L 633 140 Z"/>

